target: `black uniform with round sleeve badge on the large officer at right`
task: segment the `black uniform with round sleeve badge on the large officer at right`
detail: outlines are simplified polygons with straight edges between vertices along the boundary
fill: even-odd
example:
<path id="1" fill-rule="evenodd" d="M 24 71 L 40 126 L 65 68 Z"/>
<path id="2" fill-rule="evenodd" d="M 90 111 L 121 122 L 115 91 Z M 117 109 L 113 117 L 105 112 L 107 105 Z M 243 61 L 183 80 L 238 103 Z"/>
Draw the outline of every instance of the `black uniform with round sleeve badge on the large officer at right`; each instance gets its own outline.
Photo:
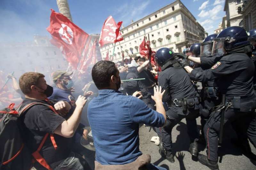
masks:
<path id="1" fill-rule="evenodd" d="M 253 89 L 254 64 L 248 55 L 242 53 L 229 54 L 221 57 L 220 61 L 209 70 L 192 70 L 191 74 L 198 81 L 207 82 L 218 79 L 217 85 L 221 94 L 226 94 L 226 102 L 231 103 L 225 111 L 224 123 L 236 123 L 240 132 L 247 135 L 255 146 L 256 138 L 252 135 L 255 131 L 248 128 L 254 124 L 256 96 Z M 254 125 L 253 125 L 254 126 Z M 255 127 L 255 126 L 254 126 Z M 205 140 L 208 143 L 207 156 L 211 161 L 218 160 L 218 133 L 220 131 L 220 112 L 214 112 L 204 126 Z"/>

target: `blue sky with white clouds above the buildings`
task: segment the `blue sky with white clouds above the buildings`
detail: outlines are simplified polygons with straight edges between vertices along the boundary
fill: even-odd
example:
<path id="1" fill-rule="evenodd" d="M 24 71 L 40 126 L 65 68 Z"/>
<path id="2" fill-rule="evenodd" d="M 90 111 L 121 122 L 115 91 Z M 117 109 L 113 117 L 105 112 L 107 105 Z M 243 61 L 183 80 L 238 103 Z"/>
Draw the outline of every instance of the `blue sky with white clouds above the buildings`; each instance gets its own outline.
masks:
<path id="1" fill-rule="evenodd" d="M 105 19 L 112 15 L 127 26 L 174 0 L 68 0 L 73 22 L 86 33 L 100 33 Z M 181 0 L 212 34 L 225 15 L 224 0 Z M 48 35 L 50 9 L 59 11 L 55 0 L 0 0 L 0 43 L 32 41 L 33 35 Z"/>

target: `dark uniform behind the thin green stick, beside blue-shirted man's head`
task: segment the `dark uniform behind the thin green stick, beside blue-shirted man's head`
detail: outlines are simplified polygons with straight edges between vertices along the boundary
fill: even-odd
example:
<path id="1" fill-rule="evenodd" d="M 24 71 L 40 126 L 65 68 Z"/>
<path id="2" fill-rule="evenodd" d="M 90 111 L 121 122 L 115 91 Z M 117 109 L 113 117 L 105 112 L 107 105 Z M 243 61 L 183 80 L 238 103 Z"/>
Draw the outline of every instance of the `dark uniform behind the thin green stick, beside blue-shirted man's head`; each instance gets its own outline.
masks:
<path id="1" fill-rule="evenodd" d="M 128 73 L 125 79 L 131 80 L 140 78 L 137 68 L 138 67 L 128 68 Z M 151 93 L 147 91 L 146 85 L 143 81 L 144 80 L 126 81 L 123 83 L 123 88 L 126 90 L 128 95 L 132 95 L 136 91 L 141 92 L 143 96 L 141 100 L 148 105 L 149 108 L 154 109 L 154 105 L 151 103 Z"/>

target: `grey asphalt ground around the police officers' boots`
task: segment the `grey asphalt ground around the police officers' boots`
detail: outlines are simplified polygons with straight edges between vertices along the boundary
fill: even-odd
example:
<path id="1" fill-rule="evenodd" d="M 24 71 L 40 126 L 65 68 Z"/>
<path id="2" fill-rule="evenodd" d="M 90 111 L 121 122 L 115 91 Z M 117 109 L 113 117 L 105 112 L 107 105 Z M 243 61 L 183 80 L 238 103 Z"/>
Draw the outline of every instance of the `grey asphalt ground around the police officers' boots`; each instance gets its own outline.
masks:
<path id="1" fill-rule="evenodd" d="M 200 128 L 200 118 L 197 119 L 198 128 Z M 188 152 L 189 138 L 187 135 L 187 126 L 185 119 L 177 124 L 172 130 L 173 140 L 173 152 L 181 152 L 184 155 L 179 157 L 179 160 L 175 158 L 174 163 L 170 163 L 167 160 L 161 158 L 158 153 L 158 146 L 155 143 L 150 142 L 152 136 L 156 136 L 156 133 L 151 129 L 142 126 L 140 127 L 140 151 L 151 155 L 151 163 L 158 166 L 165 167 L 170 170 L 208 170 L 209 168 L 200 164 L 196 159 L 191 159 L 191 154 Z M 219 146 L 219 167 L 220 170 L 256 170 L 251 161 L 245 157 L 239 148 L 231 144 L 231 138 L 236 137 L 234 131 L 227 125 L 223 135 L 223 145 Z M 251 145 L 252 152 L 256 153 L 256 149 Z M 203 145 L 199 145 L 201 153 L 206 154 L 206 149 Z"/>

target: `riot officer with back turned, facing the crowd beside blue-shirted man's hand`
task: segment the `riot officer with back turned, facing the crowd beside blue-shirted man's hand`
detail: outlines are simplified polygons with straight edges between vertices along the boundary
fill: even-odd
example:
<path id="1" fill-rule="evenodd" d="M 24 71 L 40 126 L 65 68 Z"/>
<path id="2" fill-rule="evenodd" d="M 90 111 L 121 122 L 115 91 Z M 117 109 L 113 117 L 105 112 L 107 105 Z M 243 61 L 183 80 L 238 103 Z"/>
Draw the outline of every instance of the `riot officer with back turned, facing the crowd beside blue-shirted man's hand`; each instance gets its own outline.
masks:
<path id="1" fill-rule="evenodd" d="M 189 151 L 198 154 L 198 131 L 196 118 L 199 115 L 200 97 L 190 82 L 186 71 L 174 58 L 172 50 L 160 48 L 155 55 L 155 62 L 161 67 L 158 75 L 158 85 L 165 90 L 163 102 L 167 105 L 168 117 L 166 126 L 161 129 L 163 148 L 159 153 L 170 162 L 174 162 L 172 155 L 172 128 L 183 118 L 186 118 L 188 136 L 190 138 Z"/>

